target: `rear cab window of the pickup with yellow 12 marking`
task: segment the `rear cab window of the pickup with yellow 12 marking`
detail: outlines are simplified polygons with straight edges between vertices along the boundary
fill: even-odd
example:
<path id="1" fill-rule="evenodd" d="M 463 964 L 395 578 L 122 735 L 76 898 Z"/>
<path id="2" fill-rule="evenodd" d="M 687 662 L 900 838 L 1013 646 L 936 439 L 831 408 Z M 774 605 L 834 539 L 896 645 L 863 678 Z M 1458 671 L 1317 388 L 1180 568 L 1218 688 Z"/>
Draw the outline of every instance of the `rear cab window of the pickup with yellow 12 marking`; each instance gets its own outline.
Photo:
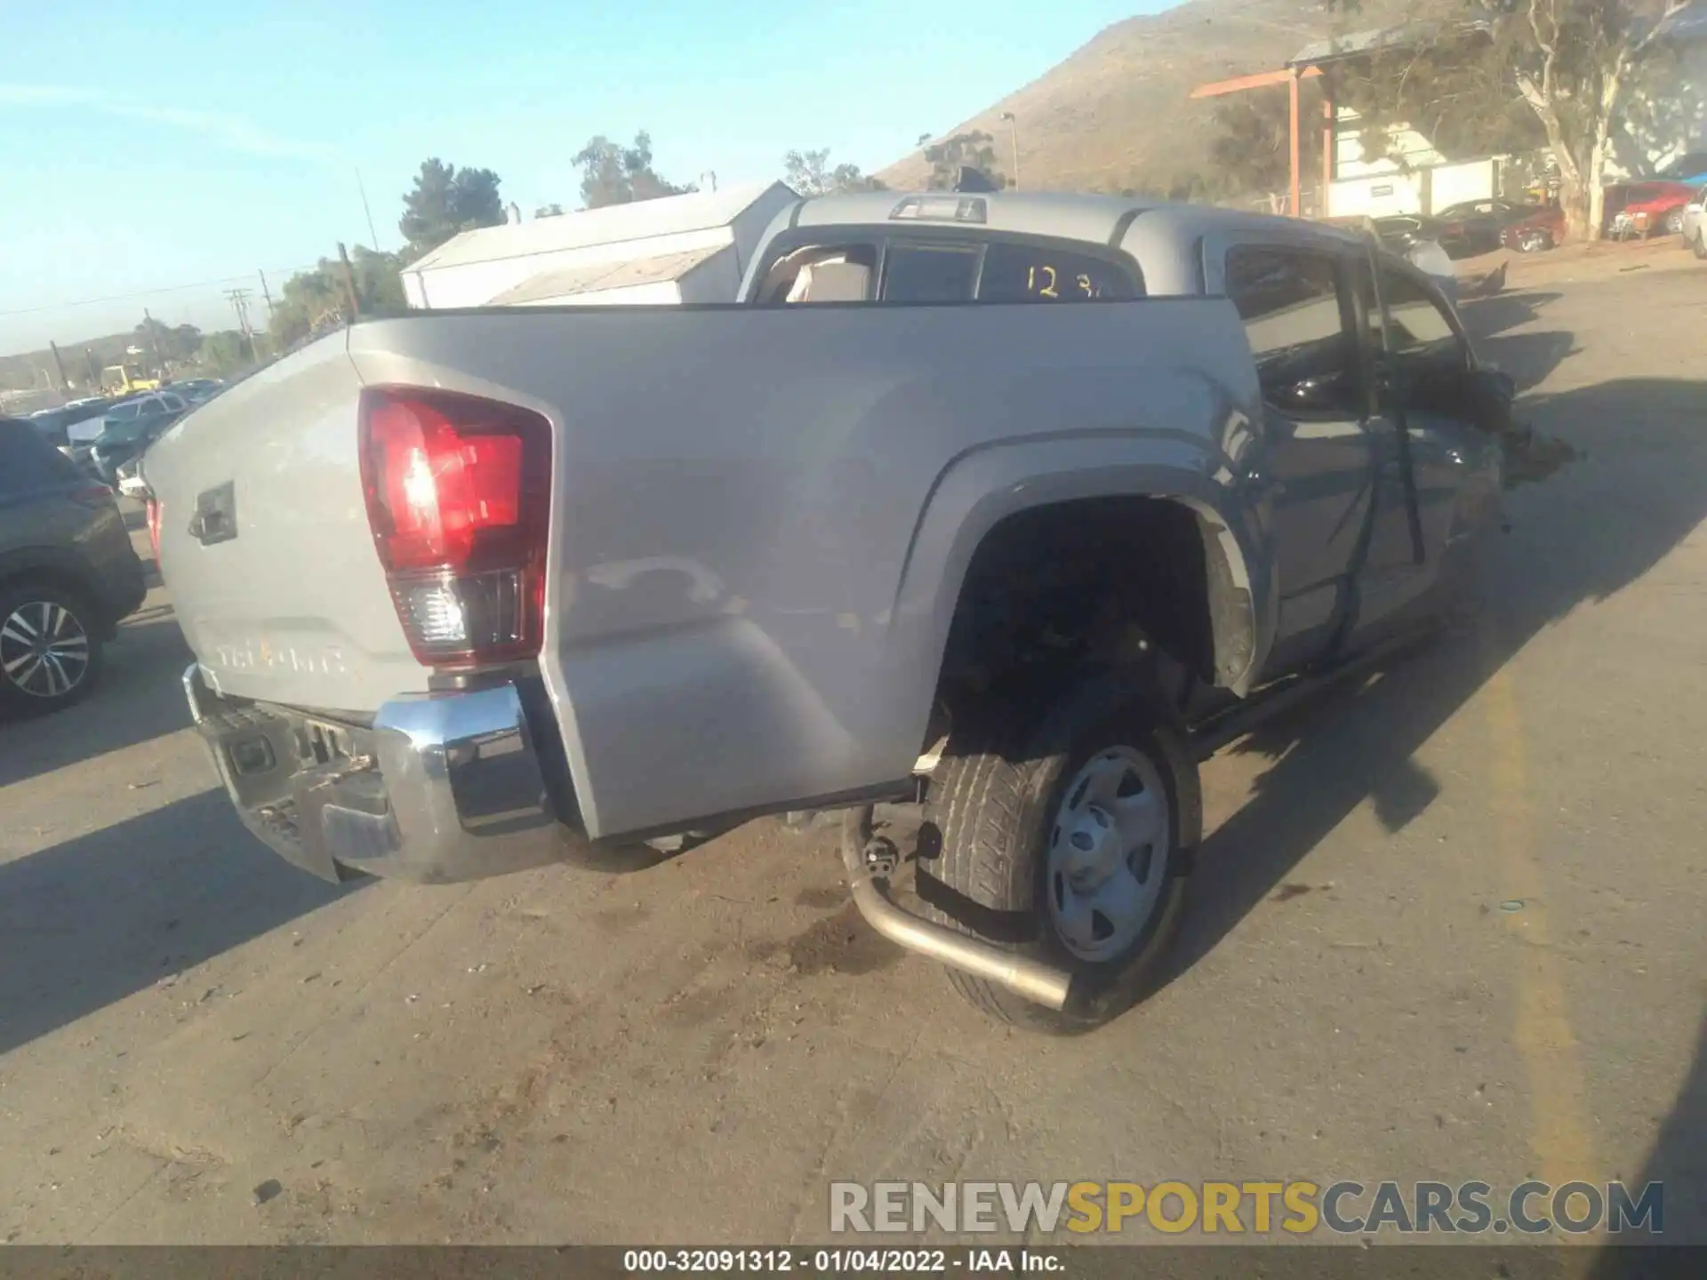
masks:
<path id="1" fill-rule="evenodd" d="M 1130 256 L 1089 244 L 964 227 L 823 227 L 773 247 L 753 300 L 1098 302 L 1144 295 Z M 802 242 L 804 241 L 804 242 Z"/>

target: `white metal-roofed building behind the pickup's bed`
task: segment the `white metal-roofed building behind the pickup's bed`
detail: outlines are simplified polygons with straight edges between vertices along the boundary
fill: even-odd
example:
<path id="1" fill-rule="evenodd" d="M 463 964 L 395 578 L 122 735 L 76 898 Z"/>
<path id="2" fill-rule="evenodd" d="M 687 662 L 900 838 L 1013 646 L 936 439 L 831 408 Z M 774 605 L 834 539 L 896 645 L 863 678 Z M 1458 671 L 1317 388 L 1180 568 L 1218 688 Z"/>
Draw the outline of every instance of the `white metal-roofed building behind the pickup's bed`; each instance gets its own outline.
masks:
<path id="1" fill-rule="evenodd" d="M 411 307 L 734 302 L 782 183 L 464 230 L 403 268 Z"/>

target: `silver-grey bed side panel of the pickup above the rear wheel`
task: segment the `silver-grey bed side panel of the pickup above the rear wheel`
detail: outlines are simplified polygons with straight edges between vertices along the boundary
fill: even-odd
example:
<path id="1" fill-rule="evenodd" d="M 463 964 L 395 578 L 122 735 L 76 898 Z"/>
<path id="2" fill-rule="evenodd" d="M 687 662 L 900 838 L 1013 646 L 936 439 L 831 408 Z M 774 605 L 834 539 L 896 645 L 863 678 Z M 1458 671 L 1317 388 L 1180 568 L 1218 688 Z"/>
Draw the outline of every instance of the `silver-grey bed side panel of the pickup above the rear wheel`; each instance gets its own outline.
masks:
<path id="1" fill-rule="evenodd" d="M 553 422 L 543 667 L 596 836 L 903 778 L 970 555 L 944 529 L 1028 481 L 1087 495 L 1125 466 L 1166 492 L 1171 471 L 1260 536 L 1224 300 L 437 312 L 355 328 L 350 357 Z M 1017 478 L 966 469 L 1007 445 Z M 959 507 L 913 565 L 939 490 Z"/>

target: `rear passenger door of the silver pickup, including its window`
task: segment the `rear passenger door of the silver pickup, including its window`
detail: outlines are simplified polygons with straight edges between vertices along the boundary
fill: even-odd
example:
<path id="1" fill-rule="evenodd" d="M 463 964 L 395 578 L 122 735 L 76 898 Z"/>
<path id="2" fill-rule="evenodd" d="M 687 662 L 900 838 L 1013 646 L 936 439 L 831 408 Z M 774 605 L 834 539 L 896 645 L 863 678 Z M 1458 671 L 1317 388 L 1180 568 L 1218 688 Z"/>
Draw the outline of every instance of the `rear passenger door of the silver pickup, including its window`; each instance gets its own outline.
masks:
<path id="1" fill-rule="evenodd" d="M 1320 657 L 1347 604 L 1372 447 L 1350 261 L 1316 246 L 1232 244 L 1226 290 L 1263 391 L 1280 618 L 1267 676 Z"/>

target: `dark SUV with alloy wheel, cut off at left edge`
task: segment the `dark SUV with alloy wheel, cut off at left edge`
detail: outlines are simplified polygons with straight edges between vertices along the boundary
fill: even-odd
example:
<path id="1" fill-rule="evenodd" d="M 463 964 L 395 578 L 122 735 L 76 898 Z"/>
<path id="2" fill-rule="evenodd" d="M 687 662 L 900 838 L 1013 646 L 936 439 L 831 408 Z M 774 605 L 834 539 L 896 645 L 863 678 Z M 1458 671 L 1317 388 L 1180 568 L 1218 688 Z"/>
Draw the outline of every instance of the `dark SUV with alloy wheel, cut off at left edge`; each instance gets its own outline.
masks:
<path id="1" fill-rule="evenodd" d="M 111 490 L 26 418 L 0 418 L 0 712 L 77 701 L 142 604 L 142 560 Z"/>

